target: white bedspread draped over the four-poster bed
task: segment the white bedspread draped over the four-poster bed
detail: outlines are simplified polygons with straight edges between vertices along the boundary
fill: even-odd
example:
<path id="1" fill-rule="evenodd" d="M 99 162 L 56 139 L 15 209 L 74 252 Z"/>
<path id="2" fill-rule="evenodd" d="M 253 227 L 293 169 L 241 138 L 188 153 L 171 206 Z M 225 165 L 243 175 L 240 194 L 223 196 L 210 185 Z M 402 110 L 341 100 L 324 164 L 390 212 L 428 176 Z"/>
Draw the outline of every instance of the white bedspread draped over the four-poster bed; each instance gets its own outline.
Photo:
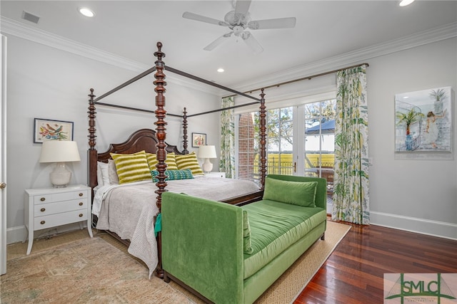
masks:
<path id="1" fill-rule="evenodd" d="M 158 263 L 154 236 L 157 187 L 153 182 L 137 182 L 104 186 L 94 196 L 92 213 L 99 217 L 97 229 L 113 231 L 121 239 L 129 239 L 129 253 L 140 258 L 149 268 L 149 278 Z M 241 179 L 208 176 L 168 181 L 170 192 L 185 193 L 216 201 L 258 190 L 258 186 Z"/>

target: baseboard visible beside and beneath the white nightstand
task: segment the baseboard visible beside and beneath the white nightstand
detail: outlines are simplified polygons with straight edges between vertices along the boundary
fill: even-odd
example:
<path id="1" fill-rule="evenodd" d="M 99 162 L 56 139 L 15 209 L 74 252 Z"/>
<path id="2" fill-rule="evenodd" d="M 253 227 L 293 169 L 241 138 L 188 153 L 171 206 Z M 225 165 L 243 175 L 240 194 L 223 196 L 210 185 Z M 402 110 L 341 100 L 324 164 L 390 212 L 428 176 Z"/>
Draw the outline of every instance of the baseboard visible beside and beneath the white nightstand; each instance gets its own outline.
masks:
<path id="1" fill-rule="evenodd" d="M 52 227 L 49 229 L 37 230 L 34 233 L 34 238 L 41 238 L 46 236 L 54 236 L 56 234 L 63 234 L 64 232 L 74 231 L 78 229 L 87 229 L 87 223 L 81 222 L 73 223 L 63 226 Z M 26 226 L 18 226 L 6 229 L 6 244 L 24 242 L 29 232 Z"/>

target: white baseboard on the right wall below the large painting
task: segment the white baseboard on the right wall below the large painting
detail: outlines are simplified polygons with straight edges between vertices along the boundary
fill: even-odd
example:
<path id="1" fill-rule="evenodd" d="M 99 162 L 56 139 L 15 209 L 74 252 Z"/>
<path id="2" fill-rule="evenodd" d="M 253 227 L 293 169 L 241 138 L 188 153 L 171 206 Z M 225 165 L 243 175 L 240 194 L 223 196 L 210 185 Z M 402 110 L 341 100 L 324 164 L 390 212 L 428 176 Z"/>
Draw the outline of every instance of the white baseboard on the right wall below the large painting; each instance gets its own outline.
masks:
<path id="1" fill-rule="evenodd" d="M 457 240 L 457 224 L 370 211 L 370 224 Z"/>

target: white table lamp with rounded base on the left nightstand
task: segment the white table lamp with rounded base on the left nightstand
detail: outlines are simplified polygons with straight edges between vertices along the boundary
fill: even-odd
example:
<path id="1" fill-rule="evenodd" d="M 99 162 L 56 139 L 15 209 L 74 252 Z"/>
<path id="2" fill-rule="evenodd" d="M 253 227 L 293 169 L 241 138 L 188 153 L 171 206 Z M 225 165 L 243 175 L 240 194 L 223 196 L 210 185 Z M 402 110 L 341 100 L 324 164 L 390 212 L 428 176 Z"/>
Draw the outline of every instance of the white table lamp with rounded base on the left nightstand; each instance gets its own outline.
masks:
<path id="1" fill-rule="evenodd" d="M 49 174 L 49 179 L 54 188 L 63 188 L 69 184 L 71 172 L 66 168 L 65 162 L 79 162 L 78 145 L 69 140 L 48 140 L 41 147 L 40 162 L 56 162 L 54 171 Z"/>

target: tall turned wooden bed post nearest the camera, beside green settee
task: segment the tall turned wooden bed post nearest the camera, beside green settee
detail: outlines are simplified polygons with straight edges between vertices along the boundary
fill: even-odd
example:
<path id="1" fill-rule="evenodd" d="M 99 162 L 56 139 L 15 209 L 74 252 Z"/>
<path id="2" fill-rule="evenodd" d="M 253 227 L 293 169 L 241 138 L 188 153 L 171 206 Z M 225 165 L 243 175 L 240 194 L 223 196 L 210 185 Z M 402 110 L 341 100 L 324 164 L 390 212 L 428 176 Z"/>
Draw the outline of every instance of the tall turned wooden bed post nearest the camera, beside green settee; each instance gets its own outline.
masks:
<path id="1" fill-rule="evenodd" d="M 157 57 L 156 60 L 156 73 L 154 74 L 154 85 L 156 85 L 156 88 L 154 91 L 156 92 L 156 118 L 157 121 L 154 122 L 154 125 L 156 125 L 156 137 L 157 137 L 157 161 L 158 163 L 156 164 L 157 171 L 159 174 L 156 176 L 156 179 L 159 179 L 159 182 L 156 183 L 157 187 L 159 189 L 156 190 L 156 205 L 159 208 L 159 213 L 161 211 L 161 206 L 162 206 L 162 193 L 166 192 L 166 175 L 165 175 L 165 170 L 166 170 L 166 164 L 165 164 L 165 159 L 166 159 L 166 122 L 165 122 L 165 116 L 166 116 L 166 110 L 164 109 L 165 107 L 165 74 L 164 74 L 164 65 L 165 63 L 162 61 L 162 58 L 165 57 L 165 53 L 162 53 L 161 51 L 162 48 L 162 43 L 158 42 L 157 43 L 157 51 L 154 53 L 154 56 Z"/>

